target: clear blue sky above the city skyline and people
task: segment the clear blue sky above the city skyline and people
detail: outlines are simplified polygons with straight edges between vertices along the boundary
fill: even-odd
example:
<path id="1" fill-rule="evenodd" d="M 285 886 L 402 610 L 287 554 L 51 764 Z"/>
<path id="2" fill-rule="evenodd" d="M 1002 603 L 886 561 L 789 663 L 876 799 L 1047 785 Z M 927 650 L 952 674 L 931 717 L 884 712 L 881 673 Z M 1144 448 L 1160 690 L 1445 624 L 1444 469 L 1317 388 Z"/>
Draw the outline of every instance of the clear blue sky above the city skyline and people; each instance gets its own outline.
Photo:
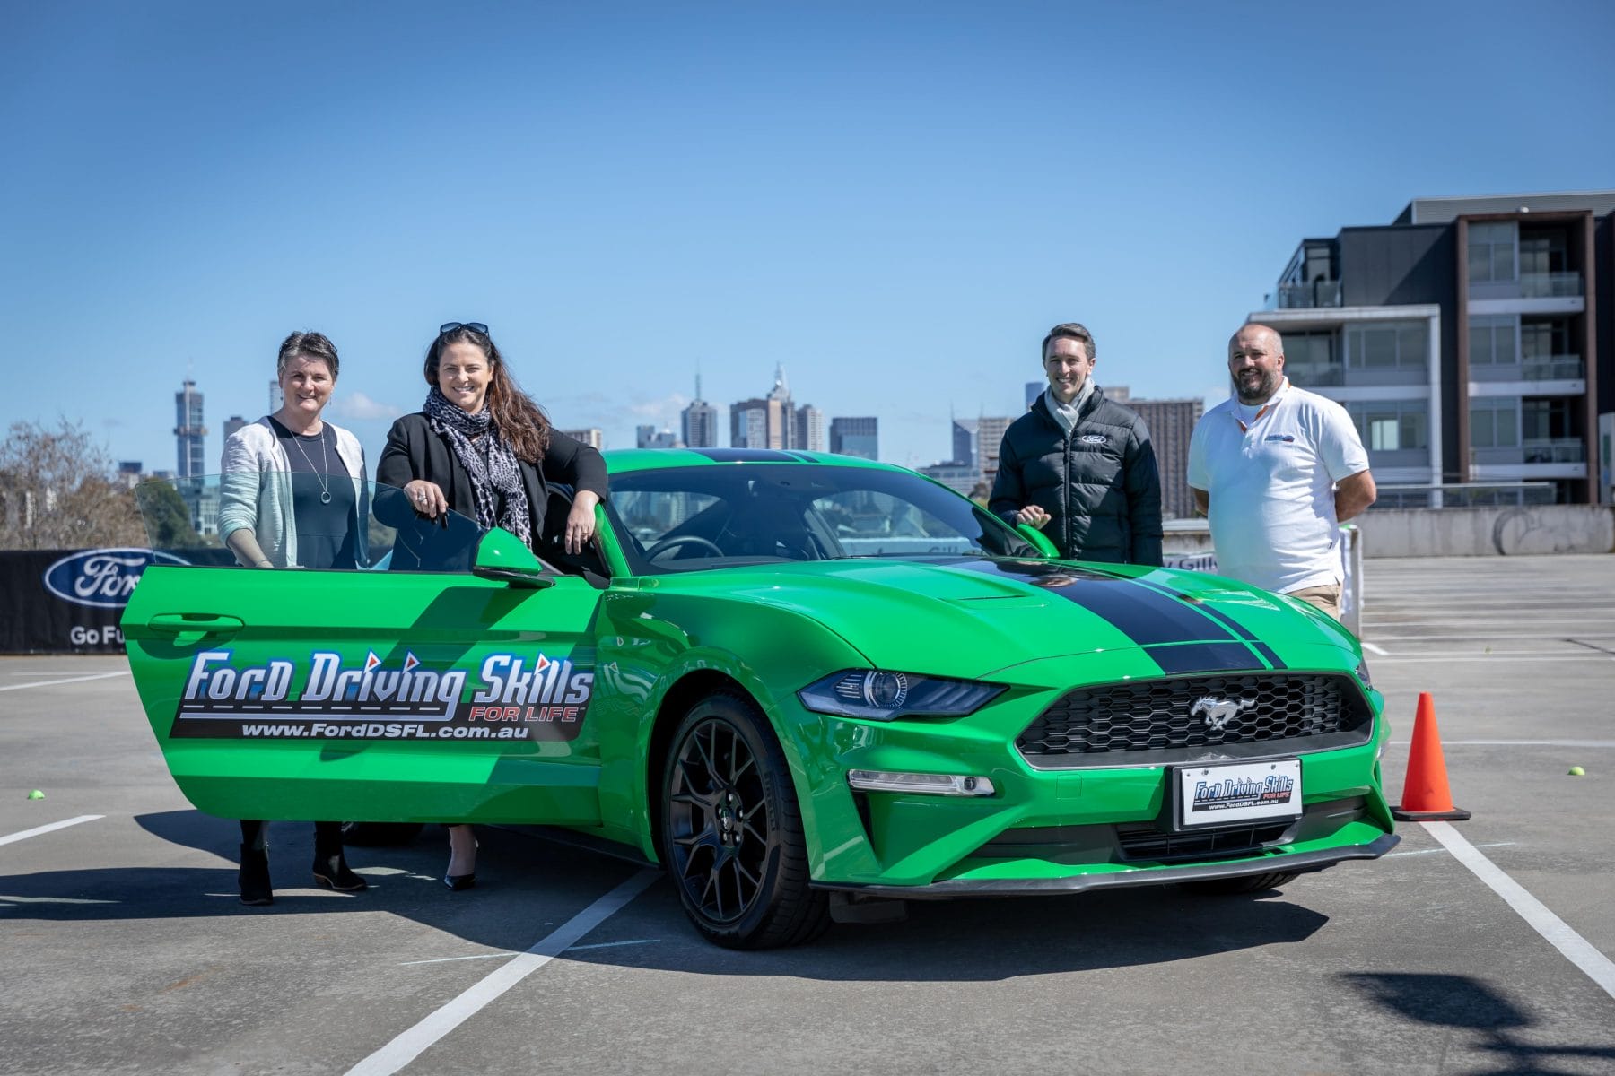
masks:
<path id="1" fill-rule="evenodd" d="M 334 10 L 328 10 L 333 8 Z M 1224 389 L 1303 236 L 1615 187 L 1615 5 L 6 3 L 0 424 L 173 468 L 342 355 L 371 465 L 438 323 L 557 426 L 761 395 L 945 458 L 1056 321 L 1100 384 Z M 725 423 L 727 431 L 727 423 Z"/>

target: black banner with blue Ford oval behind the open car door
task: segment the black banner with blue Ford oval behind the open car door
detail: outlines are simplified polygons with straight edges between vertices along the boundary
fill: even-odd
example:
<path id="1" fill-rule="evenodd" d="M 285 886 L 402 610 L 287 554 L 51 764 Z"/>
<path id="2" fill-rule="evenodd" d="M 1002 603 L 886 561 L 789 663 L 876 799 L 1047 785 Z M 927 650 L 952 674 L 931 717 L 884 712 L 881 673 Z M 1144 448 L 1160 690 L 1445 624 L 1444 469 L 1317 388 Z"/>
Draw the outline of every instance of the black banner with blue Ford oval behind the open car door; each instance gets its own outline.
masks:
<path id="1" fill-rule="evenodd" d="M 123 653 L 118 619 L 153 563 L 189 561 L 136 547 L 0 552 L 0 653 Z"/>

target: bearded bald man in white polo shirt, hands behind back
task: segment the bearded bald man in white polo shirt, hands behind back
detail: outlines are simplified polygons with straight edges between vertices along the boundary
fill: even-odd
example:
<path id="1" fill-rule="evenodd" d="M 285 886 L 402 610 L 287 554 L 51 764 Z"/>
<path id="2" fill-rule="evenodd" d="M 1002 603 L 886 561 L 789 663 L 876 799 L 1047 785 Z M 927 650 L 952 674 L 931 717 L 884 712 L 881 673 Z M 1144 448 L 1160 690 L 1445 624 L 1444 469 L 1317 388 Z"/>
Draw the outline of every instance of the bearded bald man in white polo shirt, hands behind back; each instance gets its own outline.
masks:
<path id="1" fill-rule="evenodd" d="M 1340 523 L 1374 503 L 1345 408 L 1284 376 L 1284 342 L 1248 324 L 1227 344 L 1234 395 L 1195 424 L 1189 486 L 1218 571 L 1340 616 Z"/>

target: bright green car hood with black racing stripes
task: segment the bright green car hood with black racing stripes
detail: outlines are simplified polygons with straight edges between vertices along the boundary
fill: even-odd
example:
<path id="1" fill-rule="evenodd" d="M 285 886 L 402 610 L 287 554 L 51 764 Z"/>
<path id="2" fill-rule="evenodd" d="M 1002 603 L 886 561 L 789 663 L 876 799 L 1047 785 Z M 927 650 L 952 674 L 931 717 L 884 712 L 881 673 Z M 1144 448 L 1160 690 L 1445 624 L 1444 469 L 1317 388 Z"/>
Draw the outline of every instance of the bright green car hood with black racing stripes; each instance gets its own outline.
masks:
<path id="1" fill-rule="evenodd" d="M 662 579 L 670 579 L 664 576 Z M 1053 657 L 1134 652 L 1142 674 L 1345 665 L 1357 644 L 1290 598 L 1190 571 L 1048 560 L 833 560 L 693 573 L 791 608 L 875 668 L 979 678 Z M 699 584 L 696 584 L 699 586 Z M 1286 660 L 1286 652 L 1294 660 Z M 1345 653 L 1340 653 L 1345 652 Z M 1302 657 L 1307 655 L 1307 657 Z"/>

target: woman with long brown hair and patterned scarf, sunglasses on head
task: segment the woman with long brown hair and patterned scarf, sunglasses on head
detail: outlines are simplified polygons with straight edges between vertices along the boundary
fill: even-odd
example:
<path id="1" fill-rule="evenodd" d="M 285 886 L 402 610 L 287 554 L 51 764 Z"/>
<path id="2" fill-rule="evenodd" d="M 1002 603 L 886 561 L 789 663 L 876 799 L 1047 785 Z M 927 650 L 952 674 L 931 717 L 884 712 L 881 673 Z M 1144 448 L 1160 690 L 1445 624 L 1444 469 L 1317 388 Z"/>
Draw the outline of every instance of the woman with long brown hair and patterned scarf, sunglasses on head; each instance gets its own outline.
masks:
<path id="1" fill-rule="evenodd" d="M 426 405 L 388 431 L 376 479 L 402 489 L 436 519 L 446 510 L 483 528 L 504 528 L 536 550 L 549 484 L 573 487 L 565 548 L 594 537 L 594 505 L 606 498 L 606 460 L 549 424 L 515 379 L 480 321 L 451 321 L 426 348 Z M 397 550 L 394 550 L 397 553 Z M 470 826 L 449 826 L 449 889 L 476 881 Z"/>

